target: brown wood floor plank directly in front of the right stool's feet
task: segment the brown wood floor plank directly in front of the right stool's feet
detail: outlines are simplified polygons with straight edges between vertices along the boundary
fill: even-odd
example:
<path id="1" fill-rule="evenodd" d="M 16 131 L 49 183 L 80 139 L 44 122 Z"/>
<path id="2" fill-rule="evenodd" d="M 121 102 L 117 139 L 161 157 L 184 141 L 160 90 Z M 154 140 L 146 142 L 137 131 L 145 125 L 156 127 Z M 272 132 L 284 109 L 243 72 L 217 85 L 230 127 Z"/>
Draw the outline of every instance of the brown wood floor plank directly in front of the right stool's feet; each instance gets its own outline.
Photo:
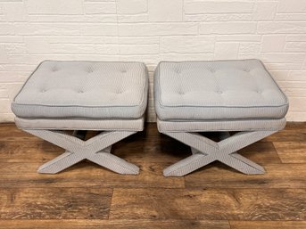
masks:
<path id="1" fill-rule="evenodd" d="M 269 164 L 263 175 L 244 175 L 220 163 L 185 176 L 186 188 L 306 188 L 305 164 Z"/>

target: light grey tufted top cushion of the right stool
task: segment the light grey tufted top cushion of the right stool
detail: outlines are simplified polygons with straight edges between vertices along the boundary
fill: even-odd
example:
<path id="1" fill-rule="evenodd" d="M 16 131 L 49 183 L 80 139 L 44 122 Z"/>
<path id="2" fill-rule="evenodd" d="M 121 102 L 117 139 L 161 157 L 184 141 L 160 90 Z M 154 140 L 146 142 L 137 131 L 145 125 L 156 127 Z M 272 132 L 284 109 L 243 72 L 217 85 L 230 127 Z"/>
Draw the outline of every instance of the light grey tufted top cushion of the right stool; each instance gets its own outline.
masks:
<path id="1" fill-rule="evenodd" d="M 288 110 L 258 60 L 160 62 L 154 97 L 161 120 L 281 119 Z"/>

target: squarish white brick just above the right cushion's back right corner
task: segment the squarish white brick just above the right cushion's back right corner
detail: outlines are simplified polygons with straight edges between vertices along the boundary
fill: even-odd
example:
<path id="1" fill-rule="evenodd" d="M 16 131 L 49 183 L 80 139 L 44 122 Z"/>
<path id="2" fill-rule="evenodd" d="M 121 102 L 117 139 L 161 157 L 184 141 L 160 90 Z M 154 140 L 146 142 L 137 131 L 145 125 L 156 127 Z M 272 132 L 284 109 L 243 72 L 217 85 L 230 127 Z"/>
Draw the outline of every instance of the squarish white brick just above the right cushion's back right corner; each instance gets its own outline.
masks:
<path id="1" fill-rule="evenodd" d="M 275 53 L 284 51 L 285 36 L 283 35 L 264 35 L 262 37 L 261 52 Z"/>

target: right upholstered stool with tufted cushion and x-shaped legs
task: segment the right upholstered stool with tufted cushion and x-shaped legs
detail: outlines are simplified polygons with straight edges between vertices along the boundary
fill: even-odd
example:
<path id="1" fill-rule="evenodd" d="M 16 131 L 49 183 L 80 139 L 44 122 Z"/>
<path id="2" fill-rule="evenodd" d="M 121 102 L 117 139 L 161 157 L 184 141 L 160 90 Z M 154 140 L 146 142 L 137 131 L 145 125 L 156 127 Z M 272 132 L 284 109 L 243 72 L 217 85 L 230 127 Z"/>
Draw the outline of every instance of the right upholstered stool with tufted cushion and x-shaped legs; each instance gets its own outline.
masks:
<path id="1" fill-rule="evenodd" d="M 236 151 L 284 128 L 288 110 L 285 94 L 258 60 L 163 61 L 154 74 L 154 99 L 159 131 L 192 151 L 164 176 L 184 176 L 215 160 L 244 174 L 264 173 Z M 219 142 L 199 134 L 211 131 L 222 134 Z"/>

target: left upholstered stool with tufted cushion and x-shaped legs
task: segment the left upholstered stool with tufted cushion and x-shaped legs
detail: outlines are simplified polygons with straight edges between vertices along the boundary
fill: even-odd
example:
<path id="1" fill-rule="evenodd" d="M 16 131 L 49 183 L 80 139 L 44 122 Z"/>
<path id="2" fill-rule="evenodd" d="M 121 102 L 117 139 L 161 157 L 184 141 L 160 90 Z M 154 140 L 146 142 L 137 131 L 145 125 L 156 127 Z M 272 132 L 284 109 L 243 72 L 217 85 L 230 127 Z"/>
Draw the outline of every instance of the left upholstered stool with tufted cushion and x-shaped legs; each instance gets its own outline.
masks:
<path id="1" fill-rule="evenodd" d="M 143 130 L 147 88 L 140 62 L 42 62 L 12 102 L 17 127 L 66 150 L 38 172 L 54 174 L 88 159 L 120 174 L 138 174 L 111 148 Z M 99 134 L 85 139 L 87 130 Z"/>

